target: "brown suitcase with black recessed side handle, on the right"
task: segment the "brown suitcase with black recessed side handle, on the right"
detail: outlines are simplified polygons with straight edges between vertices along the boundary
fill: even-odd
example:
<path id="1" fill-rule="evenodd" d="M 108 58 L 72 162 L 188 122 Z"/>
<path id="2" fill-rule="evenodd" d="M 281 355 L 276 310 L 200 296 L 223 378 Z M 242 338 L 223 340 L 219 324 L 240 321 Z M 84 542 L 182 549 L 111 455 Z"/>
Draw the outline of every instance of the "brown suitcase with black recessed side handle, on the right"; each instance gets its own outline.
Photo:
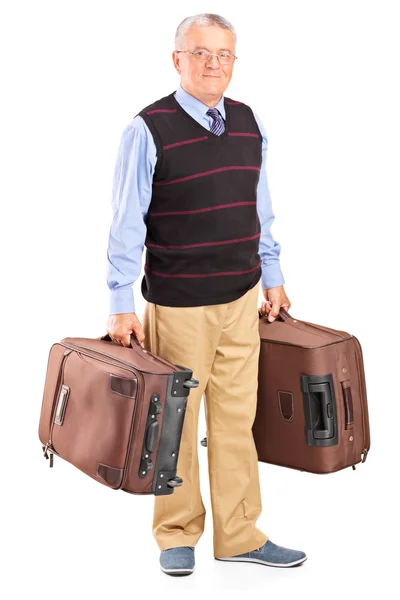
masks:
<path id="1" fill-rule="evenodd" d="M 310 473 L 355 469 L 371 443 L 360 342 L 284 309 L 272 322 L 259 317 L 258 460 Z"/>

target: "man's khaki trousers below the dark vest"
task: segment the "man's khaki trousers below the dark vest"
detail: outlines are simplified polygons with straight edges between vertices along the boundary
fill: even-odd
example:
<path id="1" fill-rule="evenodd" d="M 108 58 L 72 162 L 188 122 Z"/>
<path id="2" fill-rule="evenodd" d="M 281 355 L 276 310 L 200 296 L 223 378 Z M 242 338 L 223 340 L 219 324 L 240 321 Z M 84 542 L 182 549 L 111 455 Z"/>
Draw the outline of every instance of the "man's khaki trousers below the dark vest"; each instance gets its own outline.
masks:
<path id="1" fill-rule="evenodd" d="M 175 307 L 146 301 L 145 349 L 192 369 L 199 381 L 189 393 L 178 455 L 183 484 L 170 495 L 154 496 L 153 535 L 160 550 L 195 546 L 204 532 L 197 453 L 203 394 L 214 556 L 242 554 L 268 540 L 256 527 L 262 504 L 252 434 L 261 343 L 258 292 L 259 282 L 226 304 Z"/>

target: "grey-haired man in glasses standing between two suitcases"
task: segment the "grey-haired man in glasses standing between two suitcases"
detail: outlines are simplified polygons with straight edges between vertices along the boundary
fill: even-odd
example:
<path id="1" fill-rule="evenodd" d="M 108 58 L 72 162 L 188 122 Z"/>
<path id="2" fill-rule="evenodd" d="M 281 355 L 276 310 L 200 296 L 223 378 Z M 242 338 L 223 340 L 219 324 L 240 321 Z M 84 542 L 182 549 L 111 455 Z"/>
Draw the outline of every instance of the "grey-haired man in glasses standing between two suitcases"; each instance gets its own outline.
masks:
<path id="1" fill-rule="evenodd" d="M 197 454 L 203 394 L 214 557 L 290 567 L 304 562 L 305 553 L 277 546 L 256 527 L 260 279 L 261 313 L 273 320 L 281 306 L 290 308 L 280 246 L 269 232 L 267 138 L 249 106 L 223 95 L 236 58 L 232 25 L 214 14 L 188 17 L 175 44 L 179 88 L 140 111 L 120 146 L 107 331 L 124 346 L 134 333 L 147 350 L 192 369 L 200 382 L 190 392 L 182 431 L 177 474 L 183 486 L 155 496 L 161 569 L 192 573 L 204 531 Z M 132 283 L 145 243 L 142 327 Z"/>

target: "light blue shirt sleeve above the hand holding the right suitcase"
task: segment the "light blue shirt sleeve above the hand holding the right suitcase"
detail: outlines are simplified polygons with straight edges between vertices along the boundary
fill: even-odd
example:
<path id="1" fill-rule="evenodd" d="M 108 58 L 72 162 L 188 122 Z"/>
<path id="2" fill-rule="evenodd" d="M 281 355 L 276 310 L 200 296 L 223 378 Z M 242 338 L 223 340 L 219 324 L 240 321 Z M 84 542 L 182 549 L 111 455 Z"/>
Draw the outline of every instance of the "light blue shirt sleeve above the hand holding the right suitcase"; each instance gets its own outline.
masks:
<path id="1" fill-rule="evenodd" d="M 283 278 L 279 262 L 281 246 L 276 240 L 273 239 L 270 231 L 271 225 L 275 219 L 275 215 L 272 210 L 271 196 L 269 193 L 266 171 L 268 138 L 260 118 L 256 115 L 254 111 L 253 114 L 257 121 L 260 132 L 263 136 L 262 164 L 260 171 L 260 179 L 257 185 L 257 212 L 261 224 L 261 236 L 258 253 L 262 261 L 261 287 L 264 290 L 283 285 L 285 283 L 285 280 Z"/>

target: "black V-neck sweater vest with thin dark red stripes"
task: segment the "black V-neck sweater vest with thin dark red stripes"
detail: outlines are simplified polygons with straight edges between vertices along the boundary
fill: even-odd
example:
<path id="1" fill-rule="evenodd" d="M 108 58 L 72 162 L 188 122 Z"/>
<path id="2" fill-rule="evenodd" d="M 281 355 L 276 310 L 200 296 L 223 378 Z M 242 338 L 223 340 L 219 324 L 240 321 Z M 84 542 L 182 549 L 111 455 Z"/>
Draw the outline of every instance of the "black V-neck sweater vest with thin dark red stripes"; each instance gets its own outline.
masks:
<path id="1" fill-rule="evenodd" d="M 219 136 L 191 117 L 174 92 L 138 113 L 157 148 L 141 283 L 148 302 L 223 304 L 261 278 L 262 135 L 247 104 L 225 96 L 224 105 Z"/>

